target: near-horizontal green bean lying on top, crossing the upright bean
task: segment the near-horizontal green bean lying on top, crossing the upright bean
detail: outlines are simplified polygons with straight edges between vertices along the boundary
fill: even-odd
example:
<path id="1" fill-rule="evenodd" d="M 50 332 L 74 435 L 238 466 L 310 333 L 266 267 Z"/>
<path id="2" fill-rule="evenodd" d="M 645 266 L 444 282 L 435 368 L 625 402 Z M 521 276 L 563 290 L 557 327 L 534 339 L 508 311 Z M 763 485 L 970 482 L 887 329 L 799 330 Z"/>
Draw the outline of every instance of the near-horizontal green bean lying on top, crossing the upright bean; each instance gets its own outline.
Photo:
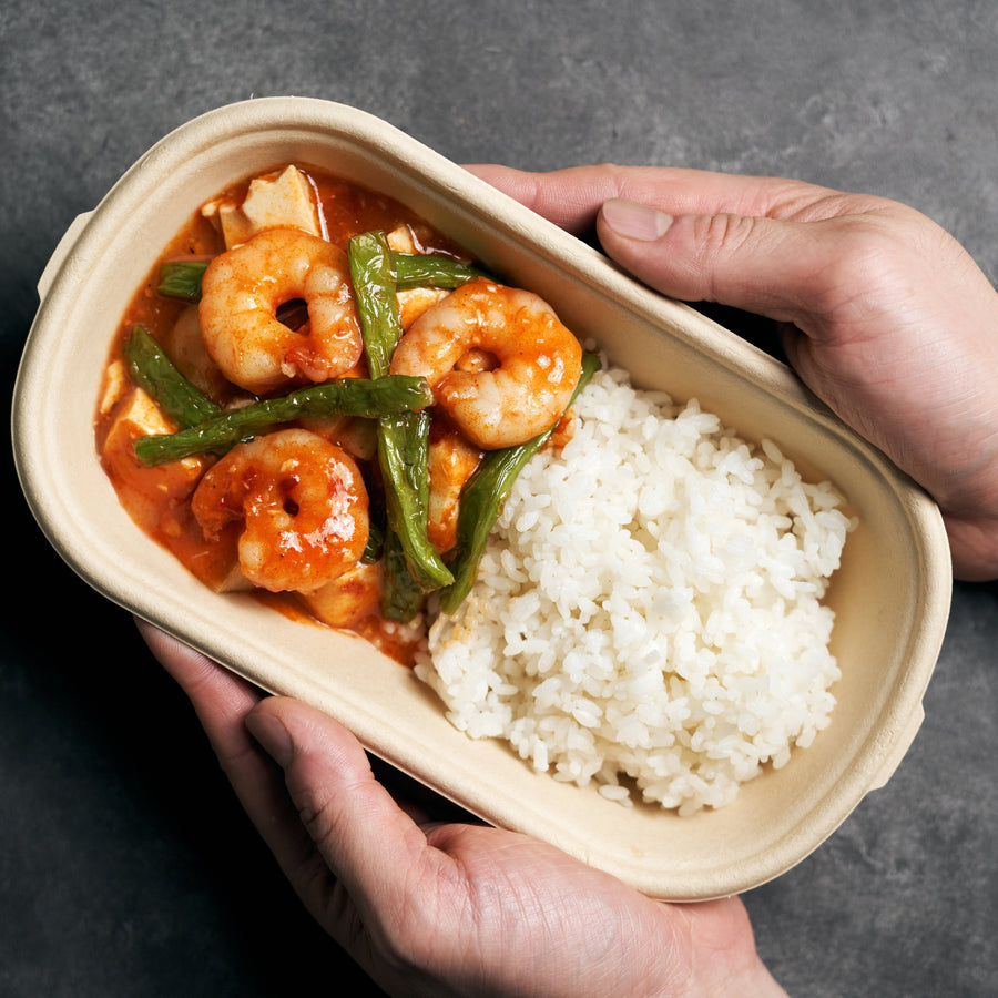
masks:
<path id="1" fill-rule="evenodd" d="M 315 416 L 364 416 L 421 409 L 432 393 L 421 378 L 342 378 L 299 388 L 288 395 L 227 409 L 175 434 L 154 434 L 135 441 L 135 455 L 146 467 L 195 454 L 224 454 L 241 440 L 276 426 Z"/>

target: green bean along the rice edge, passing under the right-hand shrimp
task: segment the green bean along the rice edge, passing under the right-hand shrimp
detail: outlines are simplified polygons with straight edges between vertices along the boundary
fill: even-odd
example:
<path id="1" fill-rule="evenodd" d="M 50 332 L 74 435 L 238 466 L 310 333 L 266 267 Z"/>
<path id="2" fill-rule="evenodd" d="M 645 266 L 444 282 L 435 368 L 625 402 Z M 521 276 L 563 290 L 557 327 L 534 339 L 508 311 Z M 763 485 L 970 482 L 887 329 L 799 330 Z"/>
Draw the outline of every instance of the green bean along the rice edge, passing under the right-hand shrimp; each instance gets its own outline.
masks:
<path id="1" fill-rule="evenodd" d="M 582 371 L 569 406 L 578 398 L 599 366 L 598 355 L 582 355 Z M 552 426 L 526 444 L 489 451 L 465 486 L 458 510 L 457 543 L 450 559 L 454 582 L 440 593 L 440 609 L 445 613 L 454 613 L 468 595 L 489 533 L 517 476 L 548 442 L 553 431 Z"/>

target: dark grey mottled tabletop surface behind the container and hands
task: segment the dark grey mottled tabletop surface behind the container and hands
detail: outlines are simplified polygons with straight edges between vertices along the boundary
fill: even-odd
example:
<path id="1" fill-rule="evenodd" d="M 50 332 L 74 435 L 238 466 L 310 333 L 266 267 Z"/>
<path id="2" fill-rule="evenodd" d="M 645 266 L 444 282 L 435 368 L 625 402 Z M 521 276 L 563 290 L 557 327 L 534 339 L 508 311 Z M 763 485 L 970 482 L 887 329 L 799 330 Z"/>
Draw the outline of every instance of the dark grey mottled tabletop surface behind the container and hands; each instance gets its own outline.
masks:
<path id="1" fill-rule="evenodd" d="M 7 0 L 4 386 L 74 215 L 220 104 L 342 101 L 458 162 L 678 164 L 880 193 L 950 228 L 995 281 L 996 83 L 994 0 Z M 128 617 L 47 549 L 10 461 L 4 473 L 0 995 L 342 981 L 344 958 L 275 873 L 186 702 Z M 895 778 L 746 897 L 792 995 L 998 995 L 996 648 L 998 588 L 957 585 Z"/>

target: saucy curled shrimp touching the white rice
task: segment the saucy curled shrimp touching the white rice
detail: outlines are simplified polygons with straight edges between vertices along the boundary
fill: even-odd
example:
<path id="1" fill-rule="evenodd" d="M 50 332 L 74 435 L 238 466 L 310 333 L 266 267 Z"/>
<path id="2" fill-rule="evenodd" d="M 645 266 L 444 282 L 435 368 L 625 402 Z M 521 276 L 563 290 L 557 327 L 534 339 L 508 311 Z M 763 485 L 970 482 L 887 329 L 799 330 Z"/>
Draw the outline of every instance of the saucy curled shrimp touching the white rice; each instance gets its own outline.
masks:
<path id="1" fill-rule="evenodd" d="M 482 352 L 495 363 L 483 363 Z M 547 302 L 477 277 L 413 323 L 395 348 L 390 370 L 426 378 L 461 432 L 481 449 L 495 450 L 525 444 L 553 426 L 571 399 L 581 364 L 579 340 Z"/>

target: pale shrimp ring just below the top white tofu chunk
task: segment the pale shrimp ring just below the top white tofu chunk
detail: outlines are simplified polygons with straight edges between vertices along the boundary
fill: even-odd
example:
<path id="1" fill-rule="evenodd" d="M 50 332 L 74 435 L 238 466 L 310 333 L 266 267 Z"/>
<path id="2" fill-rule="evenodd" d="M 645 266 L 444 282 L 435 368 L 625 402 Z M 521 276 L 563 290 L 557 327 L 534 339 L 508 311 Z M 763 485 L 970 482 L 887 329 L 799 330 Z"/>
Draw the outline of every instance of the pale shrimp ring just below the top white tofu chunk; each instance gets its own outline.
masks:
<path id="1" fill-rule="evenodd" d="M 264 230 L 216 256 L 201 287 L 205 347 L 247 391 L 339 377 L 364 352 L 346 254 L 317 236 Z M 308 322 L 295 330 L 277 318 L 277 308 L 298 298 Z"/>

